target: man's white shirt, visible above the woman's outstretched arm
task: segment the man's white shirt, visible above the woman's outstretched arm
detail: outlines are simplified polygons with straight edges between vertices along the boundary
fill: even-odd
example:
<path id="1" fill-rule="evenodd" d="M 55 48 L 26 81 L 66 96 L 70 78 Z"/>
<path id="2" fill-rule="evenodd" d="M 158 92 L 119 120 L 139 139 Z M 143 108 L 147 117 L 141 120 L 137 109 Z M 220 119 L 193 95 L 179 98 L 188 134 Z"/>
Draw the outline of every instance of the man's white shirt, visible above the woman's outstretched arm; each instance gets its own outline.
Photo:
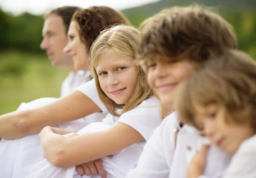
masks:
<path id="1" fill-rule="evenodd" d="M 91 79 L 92 77 L 90 76 L 89 71 L 80 70 L 77 71 L 76 74 L 74 74 L 74 72 L 70 72 L 61 85 L 61 97 L 70 94 L 70 92 L 73 92 L 76 87 Z"/>

